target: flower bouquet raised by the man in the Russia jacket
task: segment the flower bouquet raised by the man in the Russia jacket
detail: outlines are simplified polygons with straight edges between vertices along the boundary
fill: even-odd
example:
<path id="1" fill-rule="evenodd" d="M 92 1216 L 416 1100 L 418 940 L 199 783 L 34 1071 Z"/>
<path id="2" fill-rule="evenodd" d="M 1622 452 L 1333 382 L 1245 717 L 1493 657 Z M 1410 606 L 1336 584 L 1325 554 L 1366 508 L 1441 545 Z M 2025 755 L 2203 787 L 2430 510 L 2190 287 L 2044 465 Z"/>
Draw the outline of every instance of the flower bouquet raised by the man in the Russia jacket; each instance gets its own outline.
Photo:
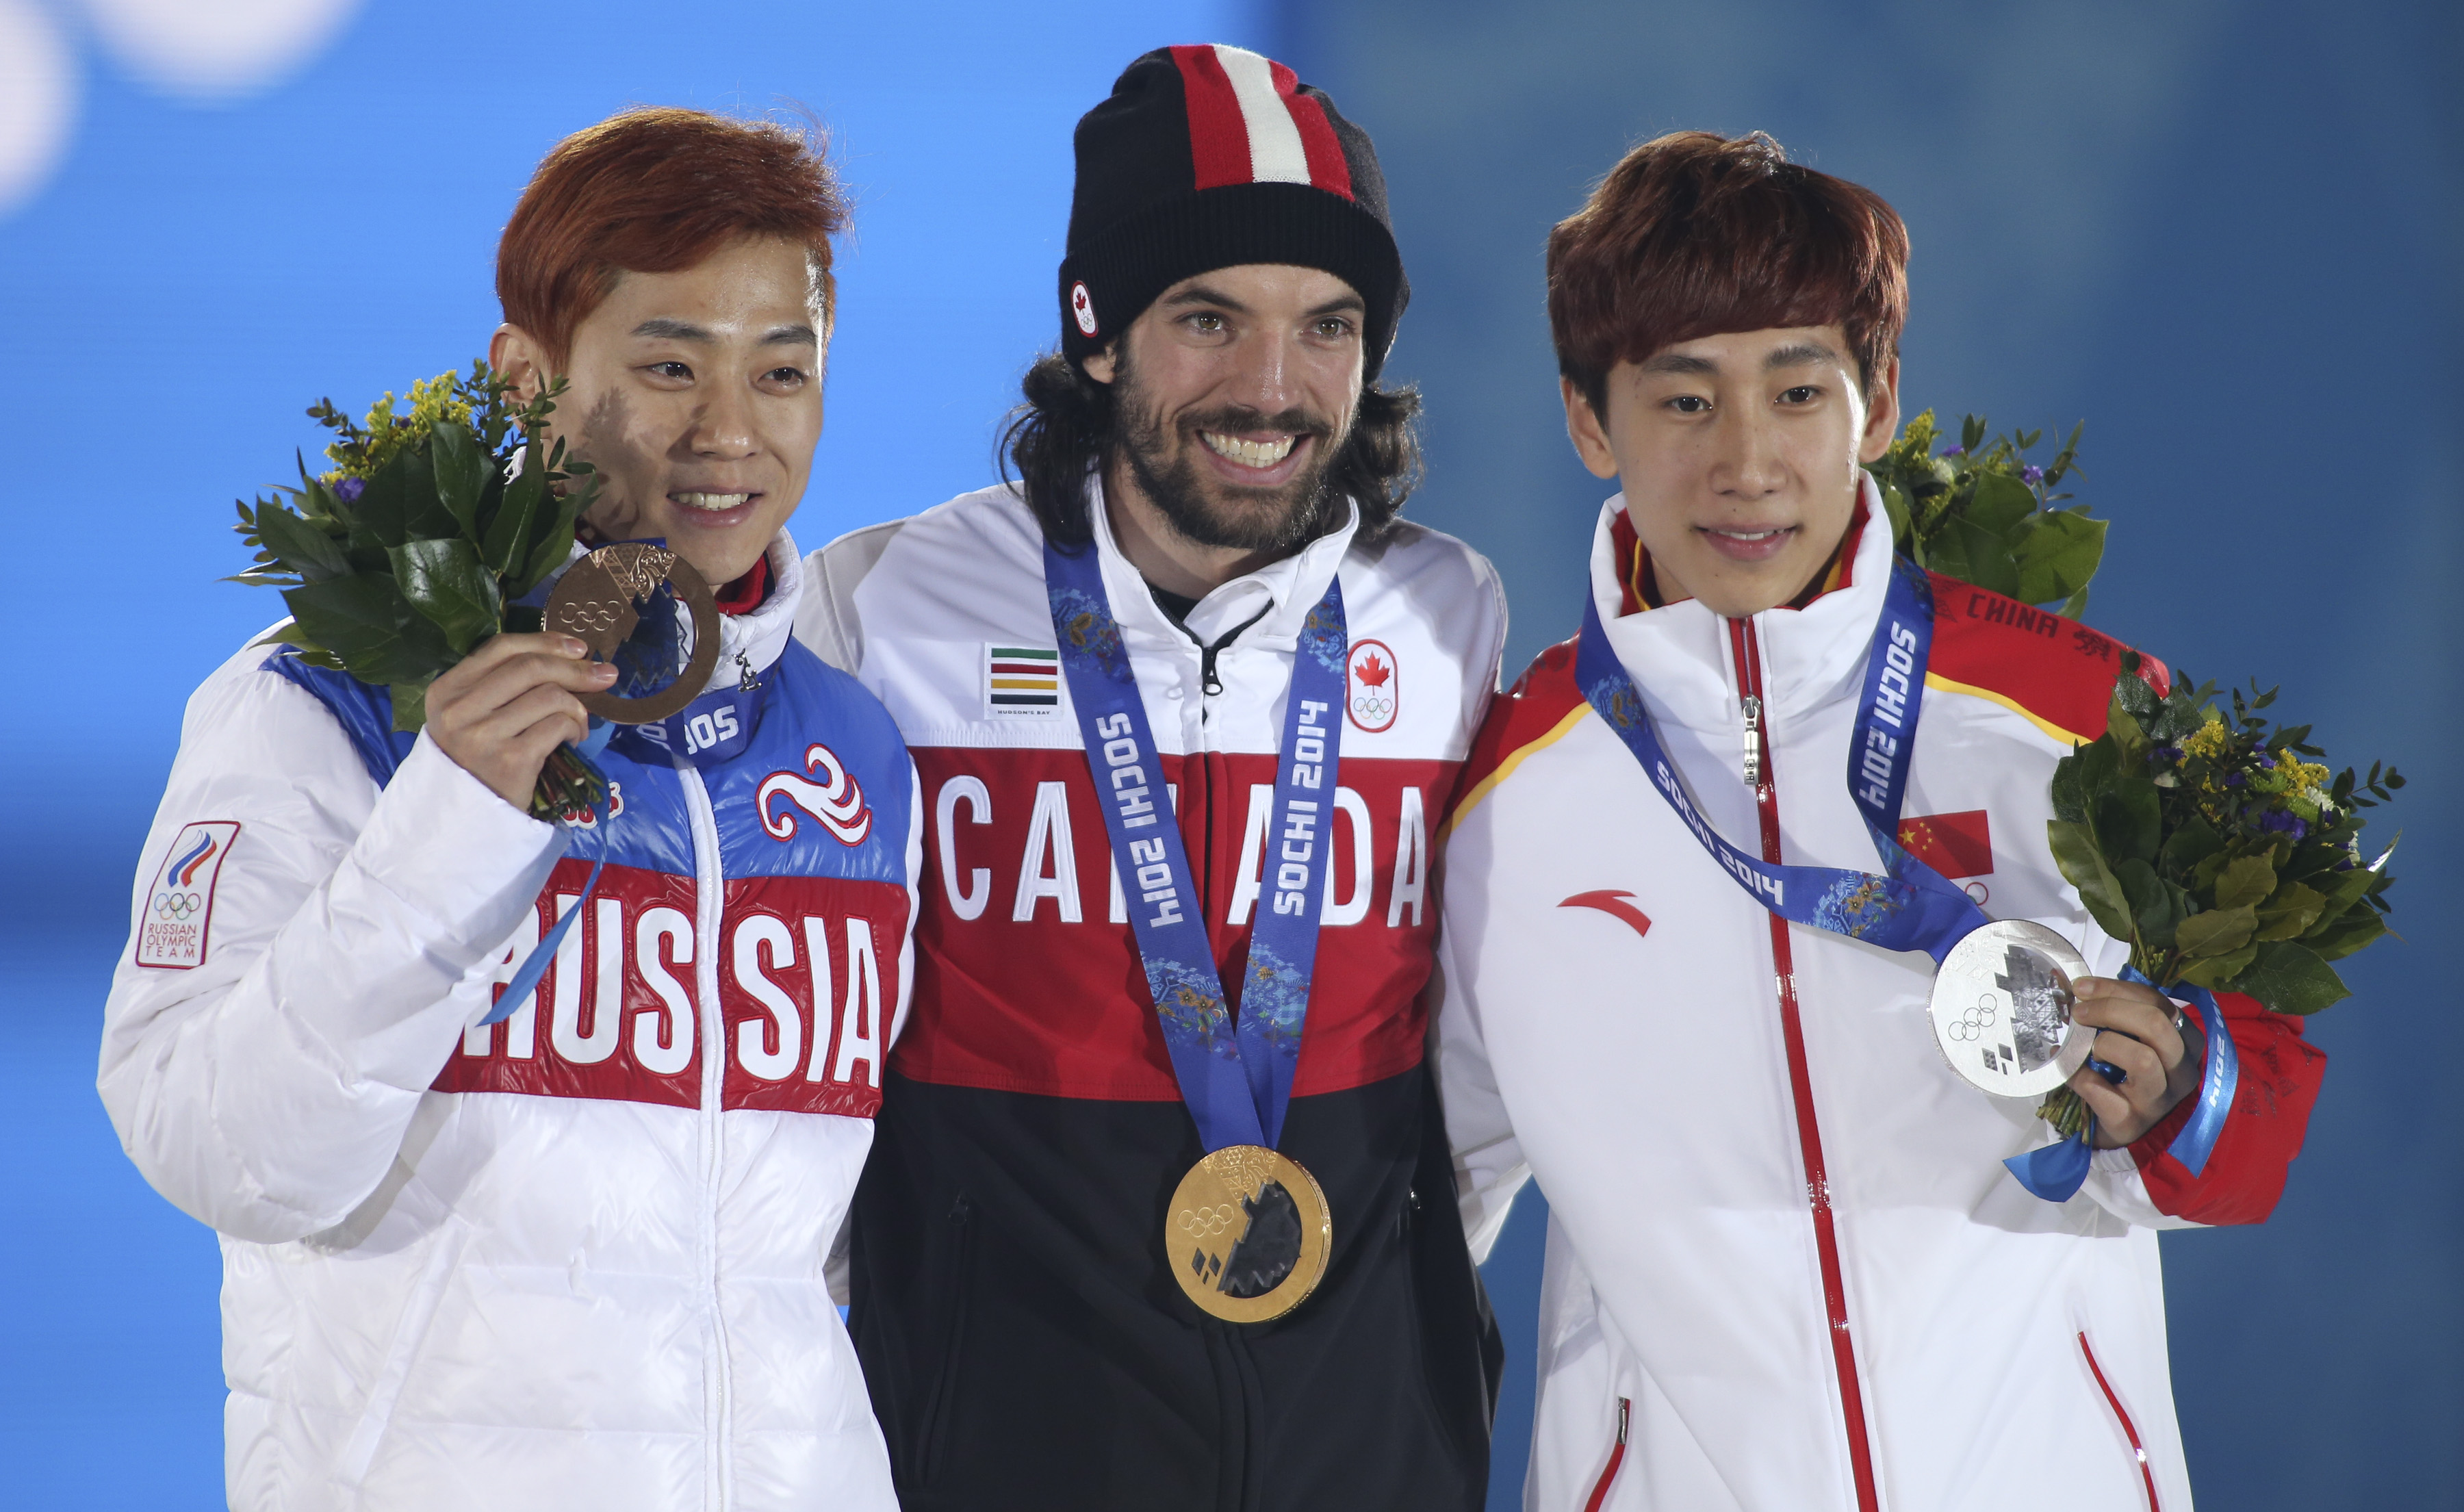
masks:
<path id="1" fill-rule="evenodd" d="M 394 729 L 426 722 L 429 682 L 500 630 L 537 630 L 517 601 L 564 564 L 596 480 L 589 465 L 525 441 L 564 384 L 515 404 L 513 379 L 473 362 L 468 377 L 411 384 L 409 414 L 387 394 L 357 424 L 318 401 L 333 463 L 301 485 L 239 505 L 256 566 L 229 581 L 276 586 L 291 618 L 266 633 L 301 660 L 384 687 Z M 540 771 L 530 813 L 589 810 L 606 778 L 572 746 Z"/>

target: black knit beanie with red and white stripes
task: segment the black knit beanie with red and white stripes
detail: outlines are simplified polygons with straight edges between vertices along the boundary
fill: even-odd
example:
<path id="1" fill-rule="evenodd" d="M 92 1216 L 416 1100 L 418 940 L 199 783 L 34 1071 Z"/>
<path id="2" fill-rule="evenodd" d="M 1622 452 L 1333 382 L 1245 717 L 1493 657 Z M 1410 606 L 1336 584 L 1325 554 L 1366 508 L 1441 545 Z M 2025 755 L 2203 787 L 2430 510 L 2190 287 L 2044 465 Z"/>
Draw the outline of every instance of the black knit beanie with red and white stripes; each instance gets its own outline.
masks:
<path id="1" fill-rule="evenodd" d="M 1158 47 L 1077 128 L 1062 352 L 1084 362 L 1173 283 L 1239 263 L 1326 268 L 1368 305 L 1365 379 L 1412 286 L 1368 133 L 1239 47 Z"/>

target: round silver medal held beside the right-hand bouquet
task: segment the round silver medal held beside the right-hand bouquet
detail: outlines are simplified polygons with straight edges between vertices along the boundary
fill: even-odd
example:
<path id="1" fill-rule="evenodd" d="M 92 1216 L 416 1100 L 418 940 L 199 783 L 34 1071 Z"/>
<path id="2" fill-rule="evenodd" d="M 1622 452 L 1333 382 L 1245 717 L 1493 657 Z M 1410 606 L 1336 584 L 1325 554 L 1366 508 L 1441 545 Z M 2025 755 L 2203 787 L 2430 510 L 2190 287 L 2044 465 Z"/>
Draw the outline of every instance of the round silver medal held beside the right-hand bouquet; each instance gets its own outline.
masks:
<path id="1" fill-rule="evenodd" d="M 2087 1064 L 2097 1029 L 2070 1022 L 2087 960 L 2043 923 L 2001 919 L 1951 946 L 1934 973 L 1934 1044 L 1971 1086 L 2035 1098 Z"/>

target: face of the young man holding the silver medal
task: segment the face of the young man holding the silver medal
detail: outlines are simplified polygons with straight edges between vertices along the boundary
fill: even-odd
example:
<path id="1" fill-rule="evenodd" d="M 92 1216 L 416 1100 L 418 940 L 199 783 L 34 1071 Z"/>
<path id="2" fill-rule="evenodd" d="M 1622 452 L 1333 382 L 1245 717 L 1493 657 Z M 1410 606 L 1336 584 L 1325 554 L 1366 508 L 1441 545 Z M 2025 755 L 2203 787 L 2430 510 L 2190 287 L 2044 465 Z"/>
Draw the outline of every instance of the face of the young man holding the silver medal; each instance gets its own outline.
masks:
<path id="1" fill-rule="evenodd" d="M 1708 335 L 1609 369 L 1607 416 L 1565 382 L 1587 468 L 1616 478 L 1663 601 L 1722 616 L 1796 598 L 1855 515 L 1858 463 L 1900 428 L 1897 360 L 1858 387 L 1838 325 Z"/>

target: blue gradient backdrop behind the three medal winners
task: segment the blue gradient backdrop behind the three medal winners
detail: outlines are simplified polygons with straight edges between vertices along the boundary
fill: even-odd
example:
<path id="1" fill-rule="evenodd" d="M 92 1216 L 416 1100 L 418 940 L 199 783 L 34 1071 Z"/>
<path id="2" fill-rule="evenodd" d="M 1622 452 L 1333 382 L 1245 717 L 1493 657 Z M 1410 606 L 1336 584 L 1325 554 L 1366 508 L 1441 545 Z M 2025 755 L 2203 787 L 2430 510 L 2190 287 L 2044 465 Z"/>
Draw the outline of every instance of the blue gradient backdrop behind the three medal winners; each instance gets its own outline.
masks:
<path id="1" fill-rule="evenodd" d="M 2163 1241 L 2210 1507 L 2464 1505 L 2464 25 L 2449 5 L 2166 7 L 1321 0 L 505 12 L 370 0 L 296 76 L 165 99 L 64 7 L 81 118 L 0 212 L 17 653 L 0 662 L 0 1455 L 12 1505 L 219 1502 L 212 1236 L 91 1091 L 128 872 L 177 709 L 276 618 L 229 500 L 301 406 L 466 364 L 537 155 L 636 101 L 813 106 L 857 192 L 830 421 L 793 529 L 991 475 L 1055 335 L 1069 123 L 1146 47 L 1276 52 L 1370 128 L 1414 281 L 1390 374 L 1429 399 L 1412 512 L 1488 552 L 1510 662 L 1572 630 L 1602 488 L 1562 438 L 1540 288 L 1557 217 L 1636 140 L 1764 128 L 1915 236 L 1910 409 L 2067 428 L 2114 547 L 2089 618 L 2200 677 L 2282 682 L 2338 758 L 2415 786 L 2397 923 L 2314 1024 L 2328 1081 L 2264 1229 Z M 0 59 L 0 71 L 5 71 Z M 1636 1069 L 1639 1096 L 1653 1076 Z M 1488 1266 L 1520 1505 L 1540 1202 Z"/>

